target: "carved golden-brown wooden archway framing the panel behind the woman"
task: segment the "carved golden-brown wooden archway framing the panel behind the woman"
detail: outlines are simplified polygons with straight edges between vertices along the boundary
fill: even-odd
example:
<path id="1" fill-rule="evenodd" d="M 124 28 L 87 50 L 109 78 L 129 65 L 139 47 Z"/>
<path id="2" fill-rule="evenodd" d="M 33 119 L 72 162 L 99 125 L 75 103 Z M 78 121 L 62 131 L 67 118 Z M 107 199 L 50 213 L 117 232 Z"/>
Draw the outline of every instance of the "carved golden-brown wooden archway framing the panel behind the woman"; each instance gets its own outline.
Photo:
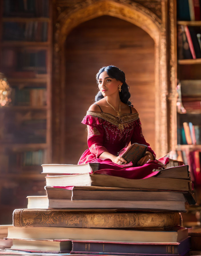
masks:
<path id="1" fill-rule="evenodd" d="M 65 159 L 65 40 L 77 25 L 90 19 L 110 15 L 126 20 L 146 31 L 155 43 L 155 145 L 156 154 L 162 156 L 168 150 L 167 136 L 167 51 L 166 51 L 166 0 L 160 2 L 161 19 L 150 9 L 129 0 L 121 1 L 82 1 L 71 8 L 64 8 L 65 0 L 55 22 L 53 54 L 53 162 Z M 141 1 L 139 1 L 141 2 Z M 144 1 L 142 1 L 144 2 Z M 147 2 L 147 1 L 145 1 Z M 59 5 L 59 4 L 58 4 Z"/>

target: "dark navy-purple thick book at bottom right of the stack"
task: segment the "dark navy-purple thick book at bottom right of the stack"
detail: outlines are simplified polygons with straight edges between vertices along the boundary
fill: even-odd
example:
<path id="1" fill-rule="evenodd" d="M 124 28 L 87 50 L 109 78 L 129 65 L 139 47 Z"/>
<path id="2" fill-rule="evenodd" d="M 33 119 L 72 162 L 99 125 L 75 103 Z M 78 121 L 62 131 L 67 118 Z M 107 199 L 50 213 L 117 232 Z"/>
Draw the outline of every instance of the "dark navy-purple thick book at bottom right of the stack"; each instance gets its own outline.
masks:
<path id="1" fill-rule="evenodd" d="M 71 253 L 106 253 L 121 255 L 169 254 L 181 255 L 190 251 L 190 237 L 180 243 L 125 243 L 113 241 L 72 241 Z"/>

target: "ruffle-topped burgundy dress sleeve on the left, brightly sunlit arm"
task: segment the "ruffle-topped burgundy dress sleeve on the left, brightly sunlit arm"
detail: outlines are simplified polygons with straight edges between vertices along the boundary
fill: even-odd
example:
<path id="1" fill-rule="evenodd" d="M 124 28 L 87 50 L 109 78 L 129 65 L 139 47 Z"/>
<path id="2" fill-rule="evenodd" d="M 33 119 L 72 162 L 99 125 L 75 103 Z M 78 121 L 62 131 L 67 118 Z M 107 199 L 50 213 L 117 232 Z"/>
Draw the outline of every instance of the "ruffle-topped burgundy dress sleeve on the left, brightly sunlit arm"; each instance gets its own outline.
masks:
<path id="1" fill-rule="evenodd" d="M 99 117 L 93 117 L 91 115 L 87 115 L 84 117 L 82 123 L 87 125 L 87 144 L 89 150 L 92 154 L 95 155 L 96 158 L 104 152 L 108 152 L 108 150 L 103 147 L 103 122 L 104 120 Z"/>

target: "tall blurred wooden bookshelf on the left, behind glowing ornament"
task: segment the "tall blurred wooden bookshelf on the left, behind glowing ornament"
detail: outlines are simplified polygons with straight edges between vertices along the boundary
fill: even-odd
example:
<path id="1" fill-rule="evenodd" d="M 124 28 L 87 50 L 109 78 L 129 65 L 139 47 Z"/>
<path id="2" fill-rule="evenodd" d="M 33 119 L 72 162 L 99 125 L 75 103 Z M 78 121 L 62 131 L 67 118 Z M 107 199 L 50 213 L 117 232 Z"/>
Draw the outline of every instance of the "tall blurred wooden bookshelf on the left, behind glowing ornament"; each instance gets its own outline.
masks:
<path id="1" fill-rule="evenodd" d="M 41 164 L 51 162 L 51 4 L 0 0 L 0 69 L 12 88 L 11 104 L 0 109 L 0 224 L 12 223 L 16 207 L 27 207 L 25 195 L 44 194 Z"/>

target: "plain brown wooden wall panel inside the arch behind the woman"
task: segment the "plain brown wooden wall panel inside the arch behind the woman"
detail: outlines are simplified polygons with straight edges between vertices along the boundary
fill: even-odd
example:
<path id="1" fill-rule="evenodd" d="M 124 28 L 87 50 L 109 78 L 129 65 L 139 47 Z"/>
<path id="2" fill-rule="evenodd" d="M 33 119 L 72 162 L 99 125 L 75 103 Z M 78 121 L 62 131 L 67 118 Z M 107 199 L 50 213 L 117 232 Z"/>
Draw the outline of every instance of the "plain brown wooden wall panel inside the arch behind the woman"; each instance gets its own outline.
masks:
<path id="1" fill-rule="evenodd" d="M 154 149 L 154 41 L 139 27 L 102 16 L 82 23 L 66 40 L 65 163 L 77 164 L 87 149 L 81 124 L 98 86 L 95 75 L 107 65 L 122 69 L 138 110 L 144 137 Z"/>

